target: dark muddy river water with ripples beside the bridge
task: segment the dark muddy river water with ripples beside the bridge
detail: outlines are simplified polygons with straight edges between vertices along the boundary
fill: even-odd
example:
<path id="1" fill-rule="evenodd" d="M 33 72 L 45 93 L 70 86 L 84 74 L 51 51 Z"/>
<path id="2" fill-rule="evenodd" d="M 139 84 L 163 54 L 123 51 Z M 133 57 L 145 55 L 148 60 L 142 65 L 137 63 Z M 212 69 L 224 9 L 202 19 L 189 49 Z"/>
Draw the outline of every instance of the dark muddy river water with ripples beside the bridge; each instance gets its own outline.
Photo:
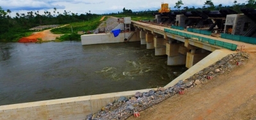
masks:
<path id="1" fill-rule="evenodd" d="M 186 71 L 140 42 L 0 43 L 0 105 L 164 86 Z"/>

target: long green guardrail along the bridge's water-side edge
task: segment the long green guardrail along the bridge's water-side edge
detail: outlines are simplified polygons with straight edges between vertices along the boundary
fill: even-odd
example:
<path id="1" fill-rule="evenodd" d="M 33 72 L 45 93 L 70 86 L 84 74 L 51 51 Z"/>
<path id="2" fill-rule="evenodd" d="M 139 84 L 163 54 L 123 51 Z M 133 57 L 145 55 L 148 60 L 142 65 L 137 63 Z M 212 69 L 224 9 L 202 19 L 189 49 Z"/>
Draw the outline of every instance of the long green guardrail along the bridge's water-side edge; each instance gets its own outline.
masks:
<path id="1" fill-rule="evenodd" d="M 198 41 L 200 41 L 202 43 L 209 43 L 210 45 L 217 45 L 219 47 L 223 47 L 223 48 L 233 50 L 233 51 L 237 49 L 236 44 L 227 43 L 225 41 L 213 40 L 211 38 L 205 38 L 205 37 L 202 37 L 202 36 L 196 36 L 194 34 L 182 33 L 182 32 L 173 31 L 171 29 L 165 29 L 165 28 L 164 28 L 164 32 L 171 33 L 171 34 L 177 34 L 179 36 L 184 36 L 186 38 L 197 38 Z"/>

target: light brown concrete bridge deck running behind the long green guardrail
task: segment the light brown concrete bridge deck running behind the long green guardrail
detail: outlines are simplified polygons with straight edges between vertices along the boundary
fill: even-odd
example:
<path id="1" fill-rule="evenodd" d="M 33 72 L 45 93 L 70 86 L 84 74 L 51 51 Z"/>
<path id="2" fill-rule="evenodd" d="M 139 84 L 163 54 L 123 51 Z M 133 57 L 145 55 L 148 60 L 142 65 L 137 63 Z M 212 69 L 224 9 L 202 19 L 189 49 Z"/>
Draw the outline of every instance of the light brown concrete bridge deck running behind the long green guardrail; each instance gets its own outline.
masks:
<path id="1" fill-rule="evenodd" d="M 141 29 L 147 29 L 148 31 L 152 31 L 154 33 L 158 33 L 158 34 L 162 34 L 162 35 L 170 34 L 170 33 L 165 33 L 164 29 L 172 29 L 170 27 L 157 26 L 157 25 L 154 25 L 154 24 L 147 24 L 147 23 L 144 23 L 144 22 L 137 22 L 137 21 L 134 21 L 134 20 L 132 20 L 132 24 L 134 26 L 140 27 Z M 181 31 L 179 29 L 172 29 L 172 30 L 182 32 L 182 33 L 187 33 L 187 34 L 194 34 L 196 36 L 202 36 L 202 37 L 205 37 L 205 38 L 211 38 L 213 40 L 225 41 L 227 43 L 234 43 L 234 44 L 239 45 L 239 46 L 244 45 L 244 47 L 242 48 L 243 51 L 245 51 L 245 52 L 256 52 L 256 45 L 252 45 L 250 43 L 243 43 L 241 41 L 234 41 L 234 40 L 228 40 L 228 39 L 224 39 L 224 38 L 217 38 L 217 37 L 214 37 L 214 36 L 207 36 L 207 35 L 204 35 L 204 34 L 191 33 L 191 32 L 188 32 L 188 31 Z M 216 48 L 219 48 L 219 47 L 216 46 Z M 241 49 L 241 47 L 237 47 L 237 49 Z"/>

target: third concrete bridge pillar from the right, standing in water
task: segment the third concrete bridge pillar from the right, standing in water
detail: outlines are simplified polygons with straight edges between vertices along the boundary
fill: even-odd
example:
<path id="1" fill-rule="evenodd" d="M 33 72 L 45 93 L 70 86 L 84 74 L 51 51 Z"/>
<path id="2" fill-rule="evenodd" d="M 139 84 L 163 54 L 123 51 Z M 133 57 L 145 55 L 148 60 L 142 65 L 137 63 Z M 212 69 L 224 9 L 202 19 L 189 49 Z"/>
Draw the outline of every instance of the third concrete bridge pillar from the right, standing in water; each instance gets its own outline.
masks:
<path id="1" fill-rule="evenodd" d="M 166 55 L 166 40 L 164 38 L 154 38 L 155 56 Z"/>

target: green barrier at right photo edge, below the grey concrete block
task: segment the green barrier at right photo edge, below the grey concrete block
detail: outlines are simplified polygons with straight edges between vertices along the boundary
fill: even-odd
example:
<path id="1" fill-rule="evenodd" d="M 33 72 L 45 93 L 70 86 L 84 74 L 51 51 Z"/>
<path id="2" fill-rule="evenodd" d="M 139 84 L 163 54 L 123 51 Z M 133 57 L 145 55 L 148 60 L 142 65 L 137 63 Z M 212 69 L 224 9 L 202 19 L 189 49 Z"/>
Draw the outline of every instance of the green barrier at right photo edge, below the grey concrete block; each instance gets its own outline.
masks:
<path id="1" fill-rule="evenodd" d="M 221 33 L 220 37 L 229 39 L 229 40 L 242 41 L 244 43 L 251 43 L 253 45 L 256 45 L 256 38 L 252 38 L 252 37 L 233 35 L 233 34 L 225 34 L 225 33 Z"/>

